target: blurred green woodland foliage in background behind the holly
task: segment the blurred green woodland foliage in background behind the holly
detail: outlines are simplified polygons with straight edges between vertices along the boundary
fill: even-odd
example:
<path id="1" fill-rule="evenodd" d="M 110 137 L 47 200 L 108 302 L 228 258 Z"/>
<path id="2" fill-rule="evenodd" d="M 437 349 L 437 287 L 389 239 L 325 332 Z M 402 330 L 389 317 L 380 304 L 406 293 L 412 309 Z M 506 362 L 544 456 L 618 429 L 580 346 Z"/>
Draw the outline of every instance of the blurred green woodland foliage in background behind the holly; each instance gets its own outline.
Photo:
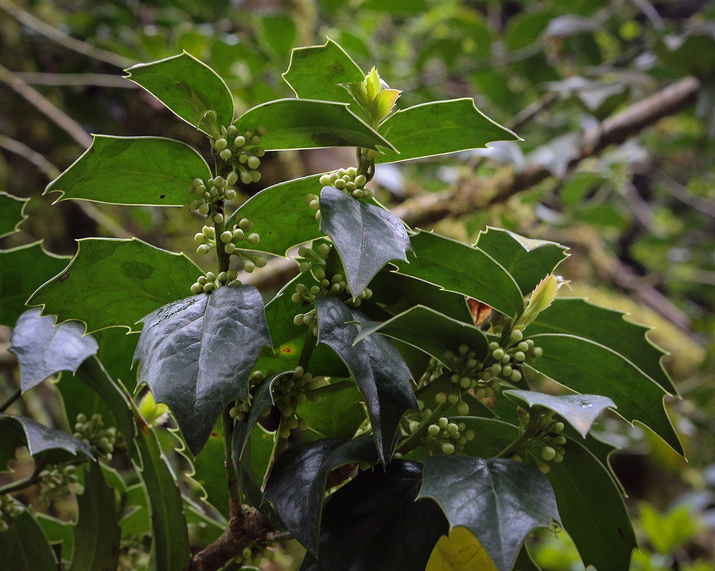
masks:
<path id="1" fill-rule="evenodd" d="M 435 229 L 473 242 L 493 225 L 567 244 L 561 272 L 572 292 L 562 293 L 657 327 L 651 339 L 671 352 L 665 365 L 683 397 L 669 411 L 689 462 L 642 427 L 603 420 L 623 447 L 611 459 L 642 545 L 632 568 L 714 570 L 714 2 L 0 0 L 0 190 L 31 198 L 29 219 L 0 247 L 43 239 L 50 252 L 73 254 L 78 238 L 134 235 L 195 257 L 199 220 L 184 209 L 51 206 L 42 191 L 82 154 L 89 133 L 169 136 L 210 159 L 197 131 L 122 79 L 122 68 L 186 50 L 225 78 L 245 111 L 293 96 L 280 76 L 290 50 L 326 37 L 403 89 L 398 106 L 473 97 L 524 139 L 380 165 L 373 184 L 385 204 L 535 164 L 548 169 L 543 182 Z M 701 85 L 696 104 L 573 166 L 584 130 L 689 75 Z M 250 192 L 353 162 L 345 149 L 270 153 Z M 1 332 L 4 347 L 8 337 Z M 7 352 L 0 357 L 6 397 L 16 364 Z M 51 423 L 59 417 L 53 402 L 46 387 L 16 407 Z M 172 452 L 168 432 L 166 441 Z M 72 517 L 73 507 L 52 510 Z M 544 569 L 583 567 L 563 534 L 531 547 Z"/>

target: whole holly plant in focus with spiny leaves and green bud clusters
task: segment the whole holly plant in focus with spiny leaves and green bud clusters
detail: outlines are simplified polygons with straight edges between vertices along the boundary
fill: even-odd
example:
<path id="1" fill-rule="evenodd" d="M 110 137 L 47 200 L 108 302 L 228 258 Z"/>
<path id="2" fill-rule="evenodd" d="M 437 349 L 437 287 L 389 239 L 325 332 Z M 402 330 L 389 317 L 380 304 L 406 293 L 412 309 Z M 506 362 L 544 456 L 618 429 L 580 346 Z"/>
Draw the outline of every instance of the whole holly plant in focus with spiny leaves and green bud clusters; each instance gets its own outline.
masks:
<path id="1" fill-rule="evenodd" d="M 563 527 L 584 564 L 628 570 L 614 448 L 591 428 L 609 409 L 683 454 L 664 352 L 623 314 L 557 297 L 565 247 L 413 229 L 366 186 L 376 165 L 515 134 L 472 99 L 395 111 L 400 91 L 332 41 L 293 51 L 296 98 L 238 119 L 189 54 L 127 71 L 206 136 L 210 164 L 97 135 L 46 192 L 187 206 L 215 267 L 136 238 L 79 240 L 69 264 L 39 243 L 0 252 L 15 397 L 61 372 L 70 427 L 0 415 L 2 467 L 23 445 L 36 466 L 0 487 L 2 568 L 235 570 L 295 538 L 302 571 L 533 570 L 526 538 Z M 267 152 L 331 146 L 355 164 L 247 197 Z M 269 257 L 300 272 L 264 305 L 241 280 Z M 24 508 L 30 485 L 77 494 L 77 524 Z"/>

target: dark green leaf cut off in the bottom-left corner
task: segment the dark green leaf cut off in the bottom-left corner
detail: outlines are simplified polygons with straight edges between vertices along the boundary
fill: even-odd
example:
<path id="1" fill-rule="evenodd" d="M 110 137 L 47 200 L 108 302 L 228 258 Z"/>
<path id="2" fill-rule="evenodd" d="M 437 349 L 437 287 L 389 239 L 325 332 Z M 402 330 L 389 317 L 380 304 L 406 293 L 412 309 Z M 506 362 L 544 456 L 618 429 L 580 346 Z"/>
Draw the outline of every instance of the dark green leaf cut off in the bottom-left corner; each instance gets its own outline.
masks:
<path id="1" fill-rule="evenodd" d="M 8 571 L 57 571 L 52 547 L 29 510 L 0 533 L 0 562 Z"/>

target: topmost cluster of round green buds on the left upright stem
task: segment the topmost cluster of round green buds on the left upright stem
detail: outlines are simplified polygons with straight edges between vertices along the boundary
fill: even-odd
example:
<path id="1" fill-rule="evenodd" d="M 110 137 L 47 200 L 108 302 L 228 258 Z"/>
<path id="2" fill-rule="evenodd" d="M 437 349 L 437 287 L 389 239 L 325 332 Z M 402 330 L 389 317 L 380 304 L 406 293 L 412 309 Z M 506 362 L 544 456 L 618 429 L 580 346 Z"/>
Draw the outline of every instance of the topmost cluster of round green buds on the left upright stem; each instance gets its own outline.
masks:
<path id="1" fill-rule="evenodd" d="M 267 129 L 263 125 L 242 132 L 235 125 L 222 126 L 221 136 L 211 141 L 219 157 L 232 164 L 235 181 L 241 179 L 243 184 L 260 181 L 261 174 L 257 169 L 261 164 L 260 157 L 265 154 L 260 144 L 266 133 Z"/>

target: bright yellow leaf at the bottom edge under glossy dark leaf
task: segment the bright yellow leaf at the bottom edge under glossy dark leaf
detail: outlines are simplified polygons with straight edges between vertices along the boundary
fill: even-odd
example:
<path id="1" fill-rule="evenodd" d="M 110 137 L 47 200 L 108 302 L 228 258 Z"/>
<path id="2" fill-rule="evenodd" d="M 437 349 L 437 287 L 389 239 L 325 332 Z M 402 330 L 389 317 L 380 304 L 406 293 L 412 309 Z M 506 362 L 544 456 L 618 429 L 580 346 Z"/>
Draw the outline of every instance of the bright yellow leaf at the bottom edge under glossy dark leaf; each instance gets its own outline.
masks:
<path id="1" fill-rule="evenodd" d="M 466 527 L 440 537 L 425 571 L 497 571 L 479 540 Z"/>

